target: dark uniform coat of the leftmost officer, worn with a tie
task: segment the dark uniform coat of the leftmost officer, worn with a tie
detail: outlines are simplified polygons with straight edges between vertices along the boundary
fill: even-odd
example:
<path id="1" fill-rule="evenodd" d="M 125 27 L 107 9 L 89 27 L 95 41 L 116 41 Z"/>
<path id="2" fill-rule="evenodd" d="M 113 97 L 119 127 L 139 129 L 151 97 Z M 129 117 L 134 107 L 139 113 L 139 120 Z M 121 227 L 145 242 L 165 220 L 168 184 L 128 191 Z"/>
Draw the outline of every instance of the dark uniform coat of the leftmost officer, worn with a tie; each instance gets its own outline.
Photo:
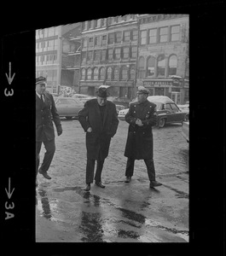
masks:
<path id="1" fill-rule="evenodd" d="M 52 140 L 55 138 L 55 131 L 61 130 L 61 119 L 55 108 L 54 98 L 48 92 L 44 93 L 44 102 L 36 94 L 36 142 Z"/>

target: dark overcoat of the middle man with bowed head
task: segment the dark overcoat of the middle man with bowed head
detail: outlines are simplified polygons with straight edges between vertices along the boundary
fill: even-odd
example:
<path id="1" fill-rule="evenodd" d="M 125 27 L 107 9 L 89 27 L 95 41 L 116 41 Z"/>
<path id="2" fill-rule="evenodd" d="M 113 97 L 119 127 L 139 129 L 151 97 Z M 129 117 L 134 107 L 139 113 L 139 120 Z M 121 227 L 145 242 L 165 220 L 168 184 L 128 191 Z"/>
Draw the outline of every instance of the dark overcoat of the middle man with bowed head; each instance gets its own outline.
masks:
<path id="1" fill-rule="evenodd" d="M 103 119 L 97 99 L 85 102 L 84 108 L 78 113 L 78 120 L 86 132 L 87 159 L 101 160 L 107 158 L 111 138 L 115 135 L 119 119 L 113 102 L 107 101 Z"/>

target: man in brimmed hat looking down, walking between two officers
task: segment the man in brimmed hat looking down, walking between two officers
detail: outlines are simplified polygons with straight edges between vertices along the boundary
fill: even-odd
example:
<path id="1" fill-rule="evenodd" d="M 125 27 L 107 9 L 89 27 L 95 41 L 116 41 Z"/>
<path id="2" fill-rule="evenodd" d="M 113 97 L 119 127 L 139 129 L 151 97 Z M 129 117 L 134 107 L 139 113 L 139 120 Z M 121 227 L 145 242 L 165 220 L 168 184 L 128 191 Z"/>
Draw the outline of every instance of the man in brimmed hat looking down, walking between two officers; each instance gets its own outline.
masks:
<path id="1" fill-rule="evenodd" d="M 101 172 L 104 160 L 107 158 L 111 138 L 115 135 L 119 119 L 113 102 L 107 101 L 107 86 L 101 85 L 97 91 L 97 98 L 84 104 L 78 113 L 78 120 L 86 132 L 87 164 L 85 191 L 90 190 L 93 183 L 95 161 L 97 161 L 95 181 L 102 189 Z"/>

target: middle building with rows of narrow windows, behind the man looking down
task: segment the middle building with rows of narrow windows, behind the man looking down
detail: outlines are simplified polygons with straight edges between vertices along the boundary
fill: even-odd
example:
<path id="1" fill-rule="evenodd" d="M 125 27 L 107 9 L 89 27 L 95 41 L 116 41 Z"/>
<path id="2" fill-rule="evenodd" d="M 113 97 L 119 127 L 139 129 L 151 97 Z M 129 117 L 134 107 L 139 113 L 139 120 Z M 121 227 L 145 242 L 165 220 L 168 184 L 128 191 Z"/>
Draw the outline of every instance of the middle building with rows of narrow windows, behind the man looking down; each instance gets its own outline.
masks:
<path id="1" fill-rule="evenodd" d="M 136 84 L 137 15 L 83 22 L 80 93 L 107 84 L 111 96 L 131 99 Z"/>

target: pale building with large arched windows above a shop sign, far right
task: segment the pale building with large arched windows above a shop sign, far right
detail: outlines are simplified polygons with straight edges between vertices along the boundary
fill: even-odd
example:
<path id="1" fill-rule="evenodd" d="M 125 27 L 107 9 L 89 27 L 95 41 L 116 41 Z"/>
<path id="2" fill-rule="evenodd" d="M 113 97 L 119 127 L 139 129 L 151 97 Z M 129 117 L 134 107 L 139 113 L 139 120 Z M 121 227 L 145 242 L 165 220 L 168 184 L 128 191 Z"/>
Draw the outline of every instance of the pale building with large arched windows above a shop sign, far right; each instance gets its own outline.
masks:
<path id="1" fill-rule="evenodd" d="M 141 15 L 136 84 L 188 102 L 188 15 Z"/>

